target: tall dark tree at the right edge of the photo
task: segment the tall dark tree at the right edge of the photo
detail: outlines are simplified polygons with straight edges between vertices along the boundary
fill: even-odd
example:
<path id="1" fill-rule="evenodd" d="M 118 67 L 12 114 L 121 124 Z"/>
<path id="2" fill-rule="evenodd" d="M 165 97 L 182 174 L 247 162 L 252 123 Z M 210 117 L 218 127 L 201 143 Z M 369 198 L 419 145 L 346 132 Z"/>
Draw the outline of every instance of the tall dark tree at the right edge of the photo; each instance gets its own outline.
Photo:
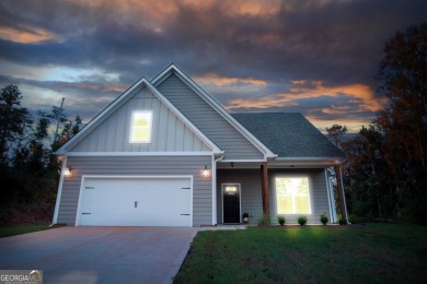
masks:
<path id="1" fill-rule="evenodd" d="M 399 208 L 427 222 L 427 23 L 396 33 L 385 44 L 378 79 L 390 103 L 373 123 L 385 137 L 384 159 Z"/>

